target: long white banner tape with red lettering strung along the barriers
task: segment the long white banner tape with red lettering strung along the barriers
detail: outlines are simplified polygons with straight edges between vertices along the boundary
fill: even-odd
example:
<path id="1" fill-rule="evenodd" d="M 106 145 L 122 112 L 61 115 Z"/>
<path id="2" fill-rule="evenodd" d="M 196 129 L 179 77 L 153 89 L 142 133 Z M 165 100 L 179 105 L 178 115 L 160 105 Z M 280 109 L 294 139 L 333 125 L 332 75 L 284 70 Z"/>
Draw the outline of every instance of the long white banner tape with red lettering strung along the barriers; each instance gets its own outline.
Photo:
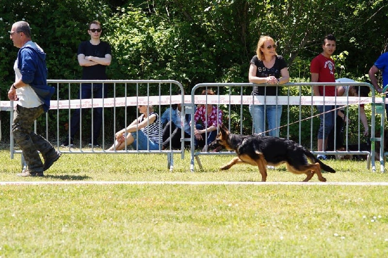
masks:
<path id="1" fill-rule="evenodd" d="M 277 100 L 277 101 L 276 101 Z M 324 101 L 323 101 L 324 100 Z M 51 100 L 50 109 L 77 109 L 77 108 L 100 108 L 100 107 L 125 107 L 125 106 L 137 106 L 137 105 L 170 105 L 178 104 L 181 101 L 181 96 L 142 96 L 142 97 L 116 97 L 116 98 L 94 98 L 94 99 L 71 99 L 71 100 Z M 372 102 L 371 97 L 311 97 L 311 96 L 236 96 L 236 95 L 196 95 L 194 96 L 195 104 L 214 104 L 214 105 L 275 105 L 276 102 L 278 105 L 337 105 L 343 106 L 347 105 L 356 105 L 356 104 L 367 104 Z M 184 96 L 184 102 L 186 104 L 191 103 L 191 95 Z M 376 97 L 375 103 L 382 103 L 383 98 Z M 386 100 L 388 103 L 388 99 Z M 14 101 L 14 107 L 16 106 L 16 101 Z M 1 110 L 6 110 L 11 108 L 11 101 L 0 101 Z"/>

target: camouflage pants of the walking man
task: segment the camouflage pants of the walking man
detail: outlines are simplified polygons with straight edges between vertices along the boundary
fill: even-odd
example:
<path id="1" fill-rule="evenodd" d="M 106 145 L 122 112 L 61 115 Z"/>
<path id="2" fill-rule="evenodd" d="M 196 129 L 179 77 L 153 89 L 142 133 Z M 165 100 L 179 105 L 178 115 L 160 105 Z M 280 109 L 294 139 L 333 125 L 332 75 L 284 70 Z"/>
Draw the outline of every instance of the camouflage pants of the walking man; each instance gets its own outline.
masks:
<path id="1" fill-rule="evenodd" d="M 28 168 L 32 173 L 42 173 L 43 163 L 39 152 L 46 157 L 55 148 L 42 136 L 32 130 L 34 121 L 43 113 L 43 106 L 23 108 L 17 105 L 14 111 L 12 133 L 16 143 L 20 146 Z"/>

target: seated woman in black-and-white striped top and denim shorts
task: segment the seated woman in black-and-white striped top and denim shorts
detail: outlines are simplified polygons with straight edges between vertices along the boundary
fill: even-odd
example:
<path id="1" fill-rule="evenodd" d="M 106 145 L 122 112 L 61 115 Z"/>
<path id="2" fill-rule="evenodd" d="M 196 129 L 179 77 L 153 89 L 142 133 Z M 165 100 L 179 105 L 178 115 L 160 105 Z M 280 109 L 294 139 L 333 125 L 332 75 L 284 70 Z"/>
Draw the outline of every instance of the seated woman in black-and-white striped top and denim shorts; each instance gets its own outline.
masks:
<path id="1" fill-rule="evenodd" d="M 142 113 L 127 128 L 116 132 L 116 141 L 108 150 L 123 150 L 132 145 L 137 150 L 159 150 L 162 143 L 162 123 L 153 107 L 139 105 Z M 148 149 L 149 145 L 149 149 Z"/>

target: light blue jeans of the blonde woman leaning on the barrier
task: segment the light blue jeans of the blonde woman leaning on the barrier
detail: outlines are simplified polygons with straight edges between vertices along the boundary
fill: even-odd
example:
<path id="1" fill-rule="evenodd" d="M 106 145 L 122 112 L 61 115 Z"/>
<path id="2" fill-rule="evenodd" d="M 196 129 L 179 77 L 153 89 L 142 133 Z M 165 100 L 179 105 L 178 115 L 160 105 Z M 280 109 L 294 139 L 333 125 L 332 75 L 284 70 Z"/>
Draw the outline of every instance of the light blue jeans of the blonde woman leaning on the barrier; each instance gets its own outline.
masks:
<path id="1" fill-rule="evenodd" d="M 279 137 L 280 118 L 282 115 L 282 105 L 265 105 L 267 115 L 268 135 Z M 264 105 L 249 105 L 249 112 L 253 119 L 255 133 L 265 131 Z"/>

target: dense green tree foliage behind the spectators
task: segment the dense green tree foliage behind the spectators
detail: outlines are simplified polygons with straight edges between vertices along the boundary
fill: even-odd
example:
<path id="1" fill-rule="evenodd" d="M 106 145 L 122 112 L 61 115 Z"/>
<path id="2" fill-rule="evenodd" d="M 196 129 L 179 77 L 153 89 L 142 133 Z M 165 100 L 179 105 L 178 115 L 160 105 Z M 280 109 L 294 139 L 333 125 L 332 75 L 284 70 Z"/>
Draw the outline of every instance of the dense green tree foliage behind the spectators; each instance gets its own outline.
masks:
<path id="1" fill-rule="evenodd" d="M 30 23 L 33 40 L 48 54 L 49 79 L 81 78 L 78 44 L 89 38 L 87 23 L 98 19 L 103 23 L 103 39 L 113 47 L 110 79 L 177 80 L 186 92 L 202 82 L 246 82 L 260 35 L 277 41 L 277 52 L 285 57 L 292 81 L 308 81 L 310 60 L 322 51 L 322 38 L 328 33 L 337 38 L 338 77 L 364 78 L 388 46 L 385 0 L 0 3 L 3 92 L 14 81 L 17 48 L 12 46 L 8 31 L 17 20 Z M 76 95 L 74 89 L 72 96 Z M 1 94 L 2 99 L 4 96 Z"/>

